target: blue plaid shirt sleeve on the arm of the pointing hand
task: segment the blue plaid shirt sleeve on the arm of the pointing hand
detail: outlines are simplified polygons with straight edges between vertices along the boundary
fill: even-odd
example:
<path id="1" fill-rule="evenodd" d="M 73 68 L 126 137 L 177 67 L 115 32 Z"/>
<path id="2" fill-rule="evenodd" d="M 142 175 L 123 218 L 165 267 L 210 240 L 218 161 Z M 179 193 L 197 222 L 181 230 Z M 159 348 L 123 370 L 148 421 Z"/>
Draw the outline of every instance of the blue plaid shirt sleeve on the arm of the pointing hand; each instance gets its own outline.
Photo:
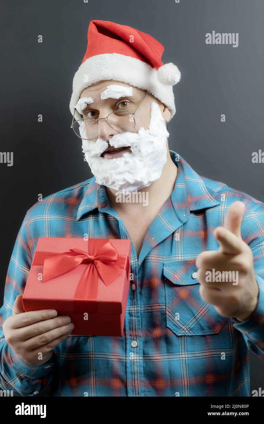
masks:
<path id="1" fill-rule="evenodd" d="M 233 326 L 242 332 L 248 349 L 264 360 L 264 204 L 256 203 L 242 221 L 242 238 L 250 246 L 256 282 L 258 302 L 245 321 L 231 318 Z"/>

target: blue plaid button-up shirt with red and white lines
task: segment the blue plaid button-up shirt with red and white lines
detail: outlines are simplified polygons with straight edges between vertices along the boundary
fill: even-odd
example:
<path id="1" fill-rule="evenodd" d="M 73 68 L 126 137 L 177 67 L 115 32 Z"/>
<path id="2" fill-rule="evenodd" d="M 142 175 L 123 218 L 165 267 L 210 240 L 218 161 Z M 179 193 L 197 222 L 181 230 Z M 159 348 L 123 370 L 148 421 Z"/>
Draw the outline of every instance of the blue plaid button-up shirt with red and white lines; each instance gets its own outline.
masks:
<path id="1" fill-rule="evenodd" d="M 139 258 L 132 245 L 134 280 L 123 337 L 70 335 L 47 363 L 31 366 L 8 346 L 0 327 L 1 389 L 16 396 L 250 396 L 248 349 L 264 359 L 264 204 L 197 175 L 170 154 L 178 167 L 175 188 Z M 252 250 L 259 286 L 256 310 L 242 323 L 201 299 L 195 266 L 201 251 L 218 249 L 214 228 L 237 200 L 246 205 L 242 238 Z M 129 238 L 95 178 L 27 211 L 8 267 L 0 324 L 23 293 L 38 238 L 84 234 Z"/>

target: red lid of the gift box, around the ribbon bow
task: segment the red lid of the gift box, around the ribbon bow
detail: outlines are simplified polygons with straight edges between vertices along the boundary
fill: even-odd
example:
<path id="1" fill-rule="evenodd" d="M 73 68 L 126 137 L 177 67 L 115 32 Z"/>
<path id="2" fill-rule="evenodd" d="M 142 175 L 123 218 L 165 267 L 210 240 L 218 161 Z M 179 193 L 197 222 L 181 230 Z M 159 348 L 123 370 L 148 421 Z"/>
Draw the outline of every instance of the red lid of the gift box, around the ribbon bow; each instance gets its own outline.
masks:
<path id="1" fill-rule="evenodd" d="M 99 246 L 109 241 L 117 249 L 119 255 L 131 257 L 131 241 L 121 239 L 88 239 L 64 237 L 39 237 L 33 257 L 30 273 L 22 297 L 25 311 L 56 309 L 58 311 L 80 311 L 121 314 L 126 307 L 129 270 L 122 269 L 119 276 L 109 285 L 105 285 L 98 275 L 96 300 L 74 299 L 78 282 L 86 270 L 86 263 L 80 263 L 75 268 L 45 282 L 41 280 L 43 265 L 35 261 L 36 252 L 63 253 L 70 248 L 78 248 L 89 253 L 89 240 Z M 92 284 L 91 281 L 87 284 Z"/>

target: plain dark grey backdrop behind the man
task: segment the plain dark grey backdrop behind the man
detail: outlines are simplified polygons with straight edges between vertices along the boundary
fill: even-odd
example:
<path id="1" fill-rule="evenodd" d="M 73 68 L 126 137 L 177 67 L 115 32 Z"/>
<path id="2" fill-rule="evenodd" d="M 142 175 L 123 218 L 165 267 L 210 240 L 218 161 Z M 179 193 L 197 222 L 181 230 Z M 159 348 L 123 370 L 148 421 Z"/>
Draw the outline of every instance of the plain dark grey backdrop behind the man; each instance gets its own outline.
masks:
<path id="1" fill-rule="evenodd" d="M 94 19 L 132 26 L 164 45 L 162 61 L 182 74 L 170 148 L 200 175 L 264 201 L 264 164 L 251 161 L 264 150 L 263 0 L 2 1 L 0 151 L 14 152 L 14 165 L 0 164 L 1 298 L 17 232 L 38 194 L 91 176 L 69 128 L 69 100 Z M 206 45 L 213 30 L 239 33 L 239 47 Z M 251 390 L 264 389 L 264 362 L 250 358 Z"/>

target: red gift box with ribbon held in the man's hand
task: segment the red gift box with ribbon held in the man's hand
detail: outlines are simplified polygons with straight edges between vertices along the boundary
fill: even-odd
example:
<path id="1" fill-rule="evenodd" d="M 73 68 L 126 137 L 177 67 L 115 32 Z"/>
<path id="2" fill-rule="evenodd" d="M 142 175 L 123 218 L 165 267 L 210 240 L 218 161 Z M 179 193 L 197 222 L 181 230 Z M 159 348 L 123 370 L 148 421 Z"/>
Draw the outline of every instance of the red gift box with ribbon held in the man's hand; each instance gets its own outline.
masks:
<path id="1" fill-rule="evenodd" d="M 71 334 L 122 336 L 130 257 L 130 240 L 39 237 L 23 308 L 68 315 Z"/>

